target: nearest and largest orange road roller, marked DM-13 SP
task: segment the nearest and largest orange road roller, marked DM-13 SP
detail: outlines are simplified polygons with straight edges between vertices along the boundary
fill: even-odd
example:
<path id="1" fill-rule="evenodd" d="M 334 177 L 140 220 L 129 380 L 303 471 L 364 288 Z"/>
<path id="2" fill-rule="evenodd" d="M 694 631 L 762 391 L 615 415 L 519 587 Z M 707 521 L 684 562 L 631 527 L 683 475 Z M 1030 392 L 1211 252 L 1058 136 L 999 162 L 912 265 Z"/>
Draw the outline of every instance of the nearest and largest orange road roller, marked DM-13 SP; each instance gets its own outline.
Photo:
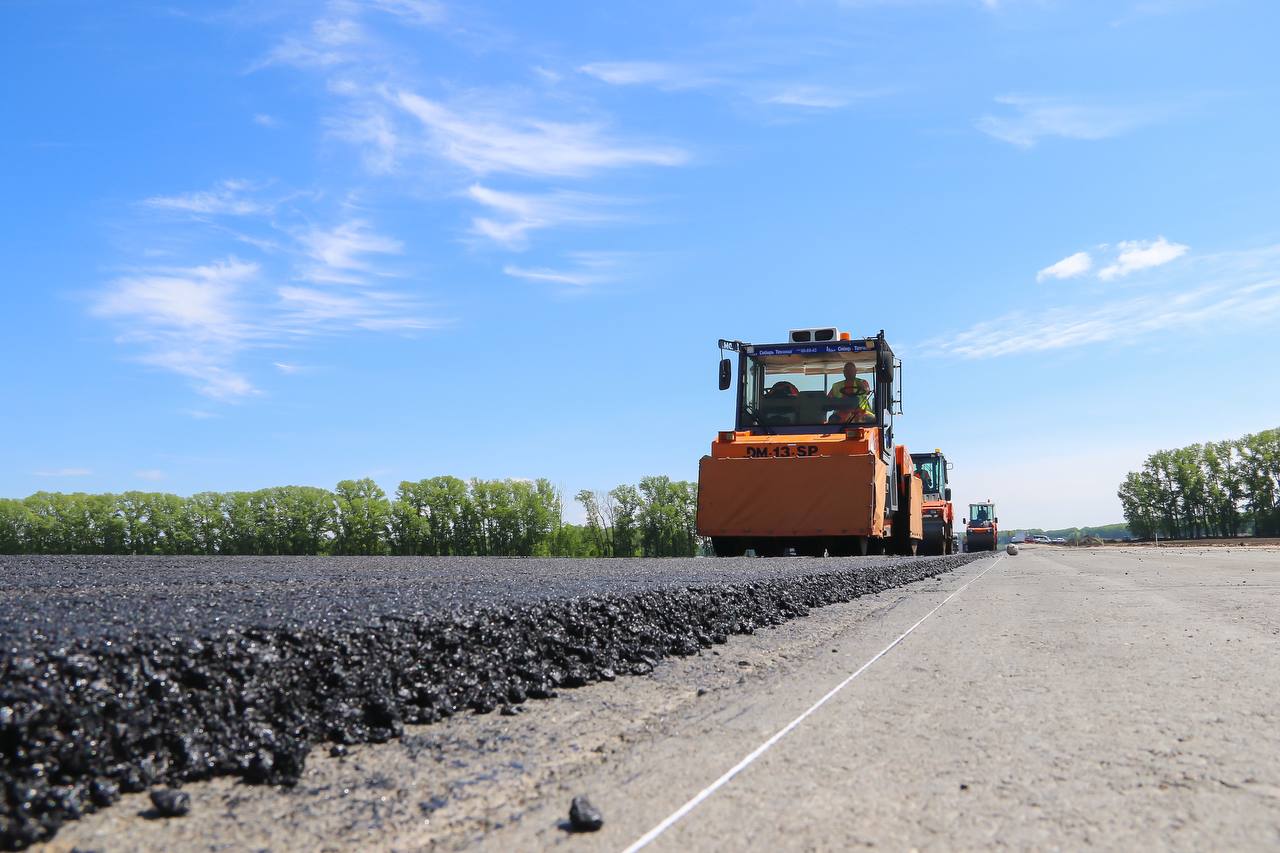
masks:
<path id="1" fill-rule="evenodd" d="M 923 492 L 893 446 L 896 368 L 884 333 L 796 329 L 739 353 L 735 429 L 698 471 L 698 532 L 718 556 L 915 553 Z M 721 388 L 732 362 L 721 361 Z"/>

